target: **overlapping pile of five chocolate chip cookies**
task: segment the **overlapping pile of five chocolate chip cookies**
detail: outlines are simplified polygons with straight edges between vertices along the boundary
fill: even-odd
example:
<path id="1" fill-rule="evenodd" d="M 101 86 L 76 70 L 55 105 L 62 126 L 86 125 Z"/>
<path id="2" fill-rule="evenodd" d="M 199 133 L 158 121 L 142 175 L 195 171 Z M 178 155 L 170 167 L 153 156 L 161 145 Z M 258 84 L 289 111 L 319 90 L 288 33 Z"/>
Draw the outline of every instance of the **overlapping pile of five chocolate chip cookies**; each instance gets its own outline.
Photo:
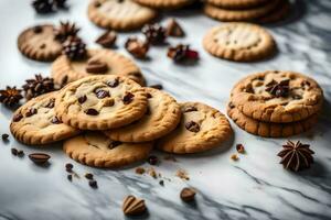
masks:
<path id="1" fill-rule="evenodd" d="M 64 141 L 73 160 L 120 167 L 148 157 L 153 146 L 197 153 L 232 134 L 224 114 L 199 102 L 178 103 L 170 95 L 125 76 L 87 76 L 19 108 L 10 130 L 29 145 Z"/>

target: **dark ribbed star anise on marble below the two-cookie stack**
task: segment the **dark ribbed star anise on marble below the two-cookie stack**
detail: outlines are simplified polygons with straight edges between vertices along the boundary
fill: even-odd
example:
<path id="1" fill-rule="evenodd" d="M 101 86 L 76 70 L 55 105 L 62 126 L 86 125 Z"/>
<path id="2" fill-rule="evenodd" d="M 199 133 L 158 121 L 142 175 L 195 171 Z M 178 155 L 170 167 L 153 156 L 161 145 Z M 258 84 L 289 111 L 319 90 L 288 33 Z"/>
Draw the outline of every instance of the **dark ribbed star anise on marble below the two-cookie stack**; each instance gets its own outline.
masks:
<path id="1" fill-rule="evenodd" d="M 310 167 L 310 164 L 313 163 L 312 154 L 314 152 L 309 148 L 309 144 L 288 141 L 277 155 L 281 157 L 280 164 L 286 169 L 298 172 Z"/>

